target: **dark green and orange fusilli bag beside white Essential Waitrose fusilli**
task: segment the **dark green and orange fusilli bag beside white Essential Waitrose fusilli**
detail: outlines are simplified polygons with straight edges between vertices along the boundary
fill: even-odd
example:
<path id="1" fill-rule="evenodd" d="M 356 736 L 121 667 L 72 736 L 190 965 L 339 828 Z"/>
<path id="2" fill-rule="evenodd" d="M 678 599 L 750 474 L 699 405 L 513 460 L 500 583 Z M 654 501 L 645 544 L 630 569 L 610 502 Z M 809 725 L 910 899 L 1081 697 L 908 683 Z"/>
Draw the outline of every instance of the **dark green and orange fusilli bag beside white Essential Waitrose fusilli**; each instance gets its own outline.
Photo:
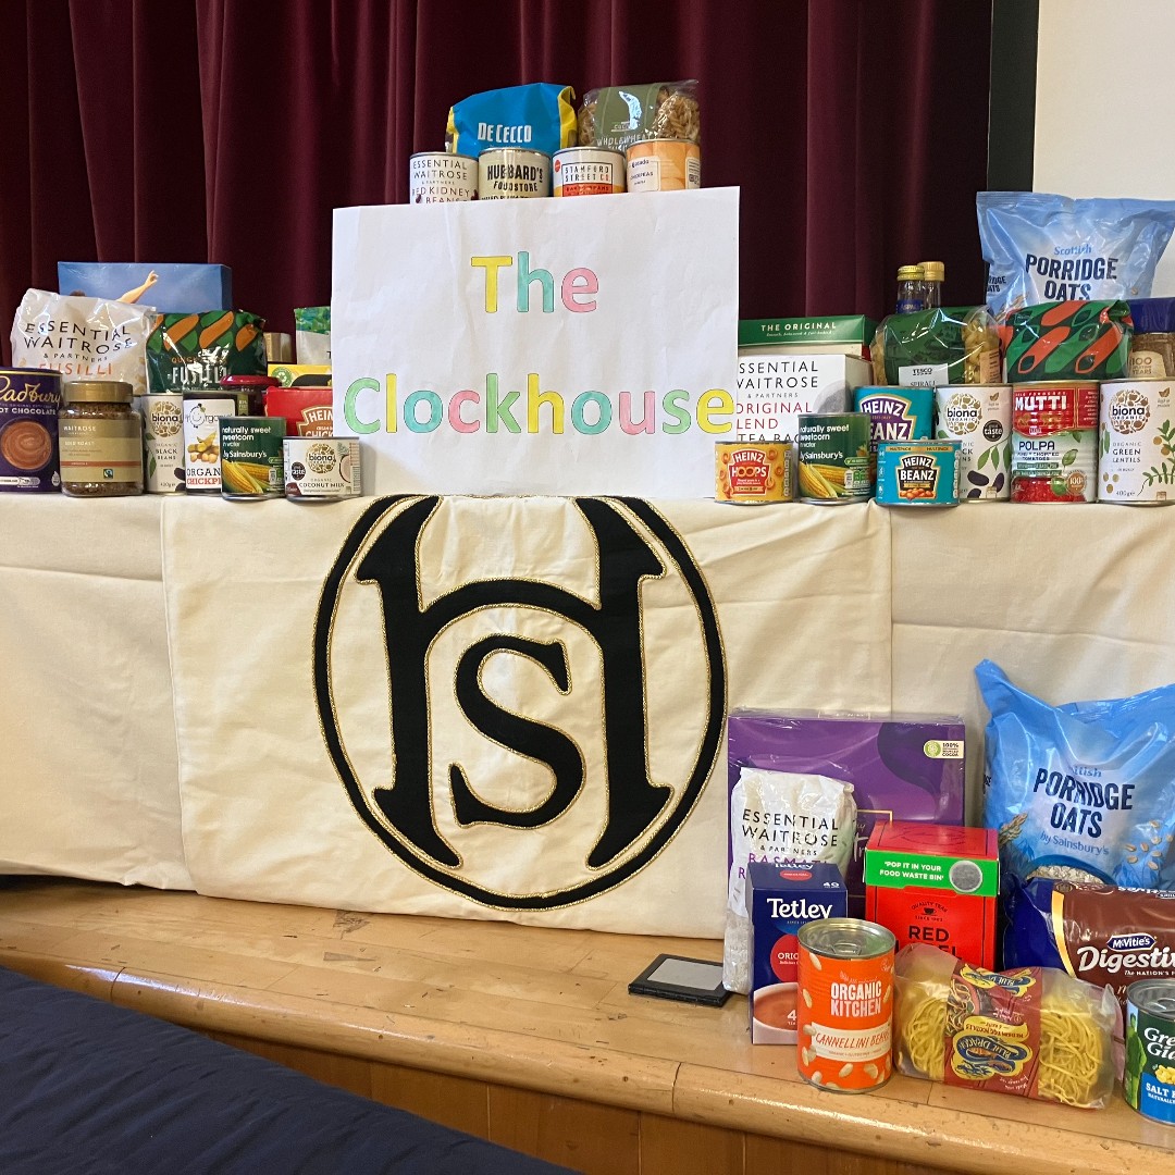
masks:
<path id="1" fill-rule="evenodd" d="M 229 375 L 266 375 L 266 320 L 244 310 L 161 314 L 147 340 L 152 391 L 219 388 Z"/>

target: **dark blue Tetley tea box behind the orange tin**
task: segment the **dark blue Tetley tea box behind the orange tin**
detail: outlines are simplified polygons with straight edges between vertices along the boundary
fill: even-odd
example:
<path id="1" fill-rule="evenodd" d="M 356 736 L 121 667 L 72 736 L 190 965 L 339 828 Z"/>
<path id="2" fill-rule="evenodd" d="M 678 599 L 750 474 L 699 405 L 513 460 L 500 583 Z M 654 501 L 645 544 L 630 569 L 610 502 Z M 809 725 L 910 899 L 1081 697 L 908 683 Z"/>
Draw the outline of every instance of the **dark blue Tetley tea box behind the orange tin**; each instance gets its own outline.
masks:
<path id="1" fill-rule="evenodd" d="M 751 918 L 751 1043 L 794 1045 L 795 935 L 807 922 L 846 916 L 845 879 L 831 861 L 752 861 L 746 908 Z"/>

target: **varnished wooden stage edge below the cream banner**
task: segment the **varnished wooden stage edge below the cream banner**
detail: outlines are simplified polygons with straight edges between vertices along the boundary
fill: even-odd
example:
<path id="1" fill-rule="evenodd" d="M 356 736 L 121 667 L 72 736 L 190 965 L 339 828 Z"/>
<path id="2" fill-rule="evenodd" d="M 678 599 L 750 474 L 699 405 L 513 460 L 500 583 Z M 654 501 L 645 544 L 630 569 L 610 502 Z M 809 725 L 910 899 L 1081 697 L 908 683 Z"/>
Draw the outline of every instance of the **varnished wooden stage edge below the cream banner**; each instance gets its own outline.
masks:
<path id="1" fill-rule="evenodd" d="M 0 964 L 586 1175 L 1171 1166 L 1175 1127 L 1119 1096 L 1094 1112 L 908 1077 L 814 1089 L 794 1049 L 748 1043 L 741 996 L 630 995 L 660 952 L 721 945 L 0 881 Z"/>

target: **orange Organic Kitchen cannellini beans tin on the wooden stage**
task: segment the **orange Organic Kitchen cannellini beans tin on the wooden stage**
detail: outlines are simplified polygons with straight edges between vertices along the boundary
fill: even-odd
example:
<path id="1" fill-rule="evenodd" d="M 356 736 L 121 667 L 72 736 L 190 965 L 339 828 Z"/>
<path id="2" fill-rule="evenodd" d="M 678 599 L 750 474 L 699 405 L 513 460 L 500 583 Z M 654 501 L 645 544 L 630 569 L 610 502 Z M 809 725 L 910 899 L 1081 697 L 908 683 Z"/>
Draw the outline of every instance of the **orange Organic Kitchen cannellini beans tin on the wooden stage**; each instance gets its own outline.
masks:
<path id="1" fill-rule="evenodd" d="M 800 1076 L 821 1089 L 866 1093 L 889 1080 L 897 939 L 877 922 L 826 918 L 797 933 Z"/>

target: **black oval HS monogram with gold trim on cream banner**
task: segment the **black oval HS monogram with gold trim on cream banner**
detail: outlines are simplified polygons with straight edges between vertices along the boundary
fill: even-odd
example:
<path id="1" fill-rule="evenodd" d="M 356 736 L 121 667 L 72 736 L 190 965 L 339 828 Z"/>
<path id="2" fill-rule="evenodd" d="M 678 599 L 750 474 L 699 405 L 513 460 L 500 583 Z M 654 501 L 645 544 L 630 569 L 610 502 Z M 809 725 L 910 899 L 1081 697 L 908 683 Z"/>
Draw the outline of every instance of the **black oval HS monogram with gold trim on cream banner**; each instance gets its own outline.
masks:
<path id="1" fill-rule="evenodd" d="M 323 585 L 314 673 L 368 827 L 506 909 L 588 900 L 653 860 L 725 720 L 705 579 L 630 498 L 374 502 Z"/>

